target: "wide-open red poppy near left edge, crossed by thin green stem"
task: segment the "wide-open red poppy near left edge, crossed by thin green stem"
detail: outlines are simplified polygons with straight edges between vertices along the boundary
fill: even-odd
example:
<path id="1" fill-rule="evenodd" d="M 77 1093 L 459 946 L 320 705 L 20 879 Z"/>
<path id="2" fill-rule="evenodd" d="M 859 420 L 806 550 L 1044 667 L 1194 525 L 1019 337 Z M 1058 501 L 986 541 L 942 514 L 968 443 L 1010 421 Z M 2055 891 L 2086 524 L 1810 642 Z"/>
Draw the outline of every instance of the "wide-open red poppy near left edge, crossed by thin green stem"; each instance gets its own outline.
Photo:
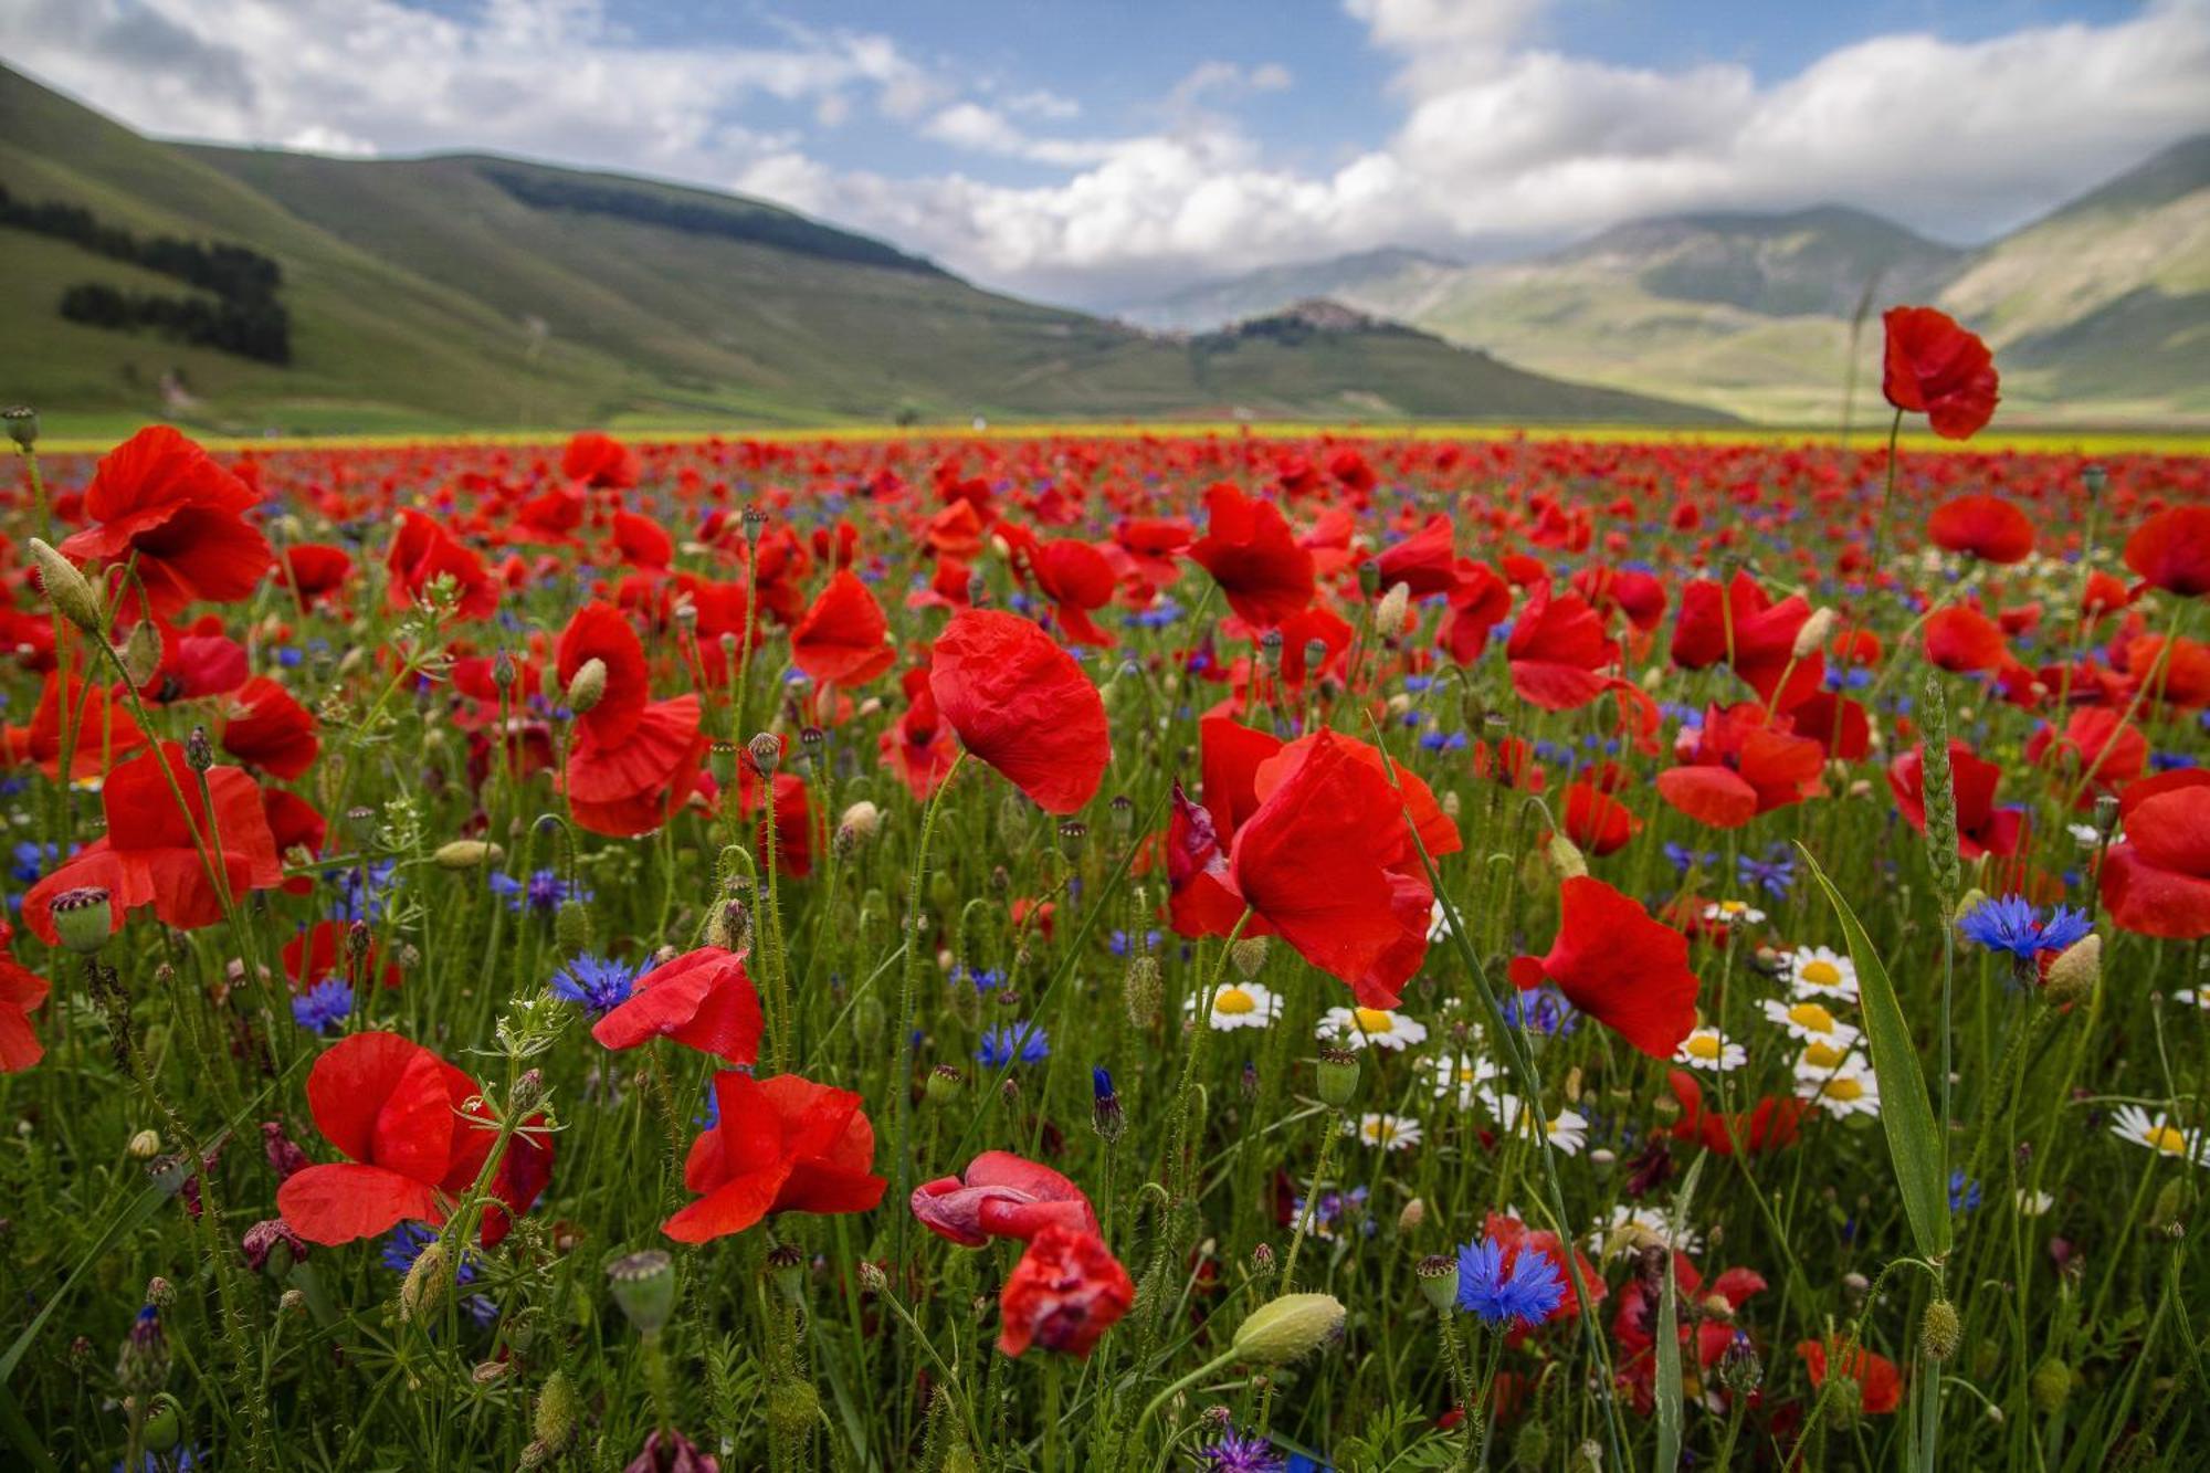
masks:
<path id="1" fill-rule="evenodd" d="M 183 809 L 161 776 L 161 763 L 168 763 L 183 790 Z M 179 931 L 212 927 L 223 918 L 223 896 L 208 878 L 199 845 L 206 845 L 208 863 L 221 871 L 232 902 L 243 900 L 245 891 L 283 885 L 259 783 L 236 767 L 208 767 L 208 794 L 214 798 L 210 823 L 199 781 L 175 741 L 115 767 L 99 790 L 99 807 L 108 816 L 106 836 L 77 849 L 31 887 L 22 898 L 24 924 L 42 942 L 60 944 L 53 898 L 64 889 L 99 887 L 108 891 L 110 929 L 119 931 L 124 913 L 141 905 L 150 905 L 155 916 Z M 199 843 L 192 838 L 194 829 Z"/>

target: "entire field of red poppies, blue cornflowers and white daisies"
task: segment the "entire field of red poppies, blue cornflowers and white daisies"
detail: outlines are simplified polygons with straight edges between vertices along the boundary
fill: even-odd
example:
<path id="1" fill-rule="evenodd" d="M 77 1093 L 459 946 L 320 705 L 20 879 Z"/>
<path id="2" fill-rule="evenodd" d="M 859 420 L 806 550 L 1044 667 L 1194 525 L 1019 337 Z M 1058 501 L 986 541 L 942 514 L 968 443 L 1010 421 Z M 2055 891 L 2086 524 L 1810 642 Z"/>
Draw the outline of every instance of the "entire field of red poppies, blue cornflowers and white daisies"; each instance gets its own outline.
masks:
<path id="1" fill-rule="evenodd" d="M 2210 460 L 18 449 L 9 1469 L 2199 1469 Z"/>

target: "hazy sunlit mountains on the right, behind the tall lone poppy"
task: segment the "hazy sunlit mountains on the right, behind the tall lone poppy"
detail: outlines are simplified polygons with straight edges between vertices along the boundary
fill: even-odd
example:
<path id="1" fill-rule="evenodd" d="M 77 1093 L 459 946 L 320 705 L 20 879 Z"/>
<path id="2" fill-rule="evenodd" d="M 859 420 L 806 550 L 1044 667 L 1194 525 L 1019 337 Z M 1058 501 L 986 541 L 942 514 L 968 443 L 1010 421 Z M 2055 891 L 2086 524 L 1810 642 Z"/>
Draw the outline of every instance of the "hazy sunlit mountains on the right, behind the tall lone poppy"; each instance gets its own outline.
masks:
<path id="1" fill-rule="evenodd" d="M 1207 290 L 1266 310 L 1244 283 L 1295 270 Z M 1978 250 L 1834 206 L 1682 215 L 1529 261 L 1355 274 L 1335 294 L 1543 374 L 1799 425 L 1841 416 L 1861 301 L 1929 301 L 1996 347 L 2013 422 L 2203 422 L 2210 135 Z M 1856 345 L 1865 420 L 1881 414 L 1878 325 Z"/>

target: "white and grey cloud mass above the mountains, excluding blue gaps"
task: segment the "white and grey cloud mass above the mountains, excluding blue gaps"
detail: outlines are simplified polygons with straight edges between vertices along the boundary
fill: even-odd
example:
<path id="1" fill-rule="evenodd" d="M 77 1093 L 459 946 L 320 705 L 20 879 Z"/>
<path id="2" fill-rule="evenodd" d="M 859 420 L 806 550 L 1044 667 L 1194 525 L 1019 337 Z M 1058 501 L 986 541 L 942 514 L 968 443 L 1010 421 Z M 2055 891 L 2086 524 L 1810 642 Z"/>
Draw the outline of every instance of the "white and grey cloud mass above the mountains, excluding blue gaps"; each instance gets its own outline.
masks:
<path id="1" fill-rule="evenodd" d="M 601 0 L 0 0 L 11 60 L 155 133 L 385 153 L 508 148 L 769 195 L 1036 294 L 1112 301 L 1386 243 L 1558 241 L 1691 208 L 1856 203 L 1987 234 L 2210 128 L 2210 0 L 1980 42 L 1878 35 L 1801 73 L 1622 66 L 1560 51 L 1545 0 L 1344 0 L 1392 62 L 1395 133 L 1333 168 L 1235 117 L 1293 86 L 1204 62 L 1125 135 L 1063 137 L 1059 91 L 955 82 L 884 35 L 769 18 L 758 46 L 654 46 Z M 1065 82 L 1065 80 L 1048 80 Z M 1023 91 L 1025 88 L 1025 91 Z M 966 155 L 833 168 L 813 128 L 866 113 Z M 1315 97 L 1315 104 L 1324 100 Z M 884 126 L 884 124 L 877 124 Z M 1355 144 L 1355 142 L 1353 142 Z M 1006 184 L 1003 161 L 1045 170 Z"/>

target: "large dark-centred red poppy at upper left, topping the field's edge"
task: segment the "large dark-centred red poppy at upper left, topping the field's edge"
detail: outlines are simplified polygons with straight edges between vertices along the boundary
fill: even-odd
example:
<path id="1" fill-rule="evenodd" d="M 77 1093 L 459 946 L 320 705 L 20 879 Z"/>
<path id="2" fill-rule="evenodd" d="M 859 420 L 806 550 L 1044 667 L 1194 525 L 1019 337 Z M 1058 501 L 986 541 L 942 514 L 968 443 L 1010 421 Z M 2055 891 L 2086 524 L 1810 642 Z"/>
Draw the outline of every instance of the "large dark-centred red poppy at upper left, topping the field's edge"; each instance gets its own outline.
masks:
<path id="1" fill-rule="evenodd" d="M 84 491 L 95 524 L 62 542 L 77 562 L 135 560 L 152 613 L 234 604 L 270 571 L 270 540 L 245 520 L 261 500 L 168 425 L 148 425 L 99 460 Z M 126 593 L 119 613 L 137 617 Z"/>

